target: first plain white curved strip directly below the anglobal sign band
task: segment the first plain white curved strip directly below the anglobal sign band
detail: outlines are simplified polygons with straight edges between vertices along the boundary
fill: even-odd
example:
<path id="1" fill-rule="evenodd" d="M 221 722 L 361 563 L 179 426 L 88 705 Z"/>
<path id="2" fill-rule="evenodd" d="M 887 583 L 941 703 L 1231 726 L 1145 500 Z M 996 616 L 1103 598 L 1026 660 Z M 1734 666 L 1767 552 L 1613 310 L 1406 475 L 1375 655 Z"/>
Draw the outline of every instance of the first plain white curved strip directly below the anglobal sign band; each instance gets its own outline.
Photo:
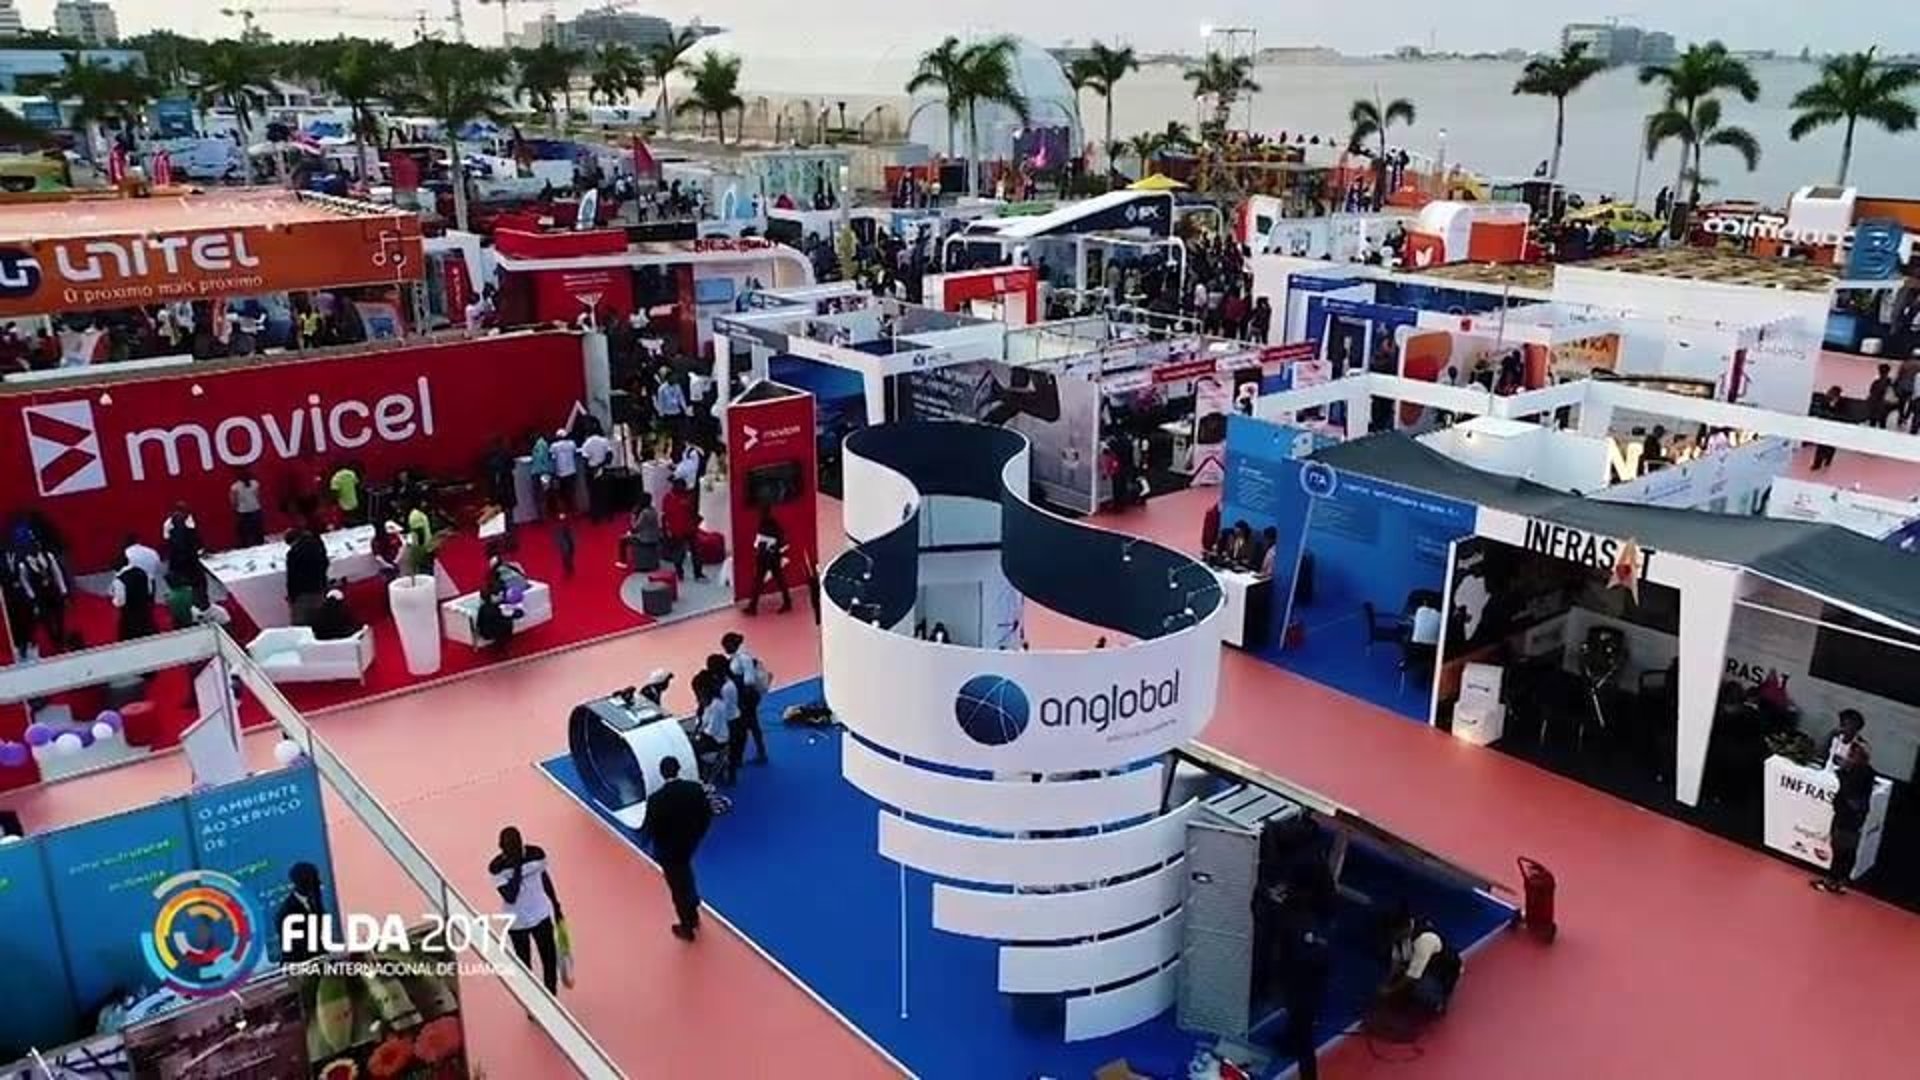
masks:
<path id="1" fill-rule="evenodd" d="M 1098 780 L 973 780 L 916 769 L 876 753 L 856 738 L 841 740 L 841 774 L 854 788 L 889 807 L 920 817 L 1027 832 L 1035 828 L 1087 828 L 1144 817 L 1160 809 L 1164 765 L 1135 769 Z"/>

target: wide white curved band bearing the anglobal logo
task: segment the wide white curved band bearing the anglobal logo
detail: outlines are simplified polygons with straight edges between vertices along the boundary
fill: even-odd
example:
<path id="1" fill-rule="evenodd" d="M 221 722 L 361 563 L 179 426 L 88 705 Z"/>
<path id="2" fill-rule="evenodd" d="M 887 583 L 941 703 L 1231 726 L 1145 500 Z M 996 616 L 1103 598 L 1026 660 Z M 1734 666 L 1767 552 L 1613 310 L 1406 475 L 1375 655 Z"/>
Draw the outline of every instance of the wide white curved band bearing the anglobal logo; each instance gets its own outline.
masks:
<path id="1" fill-rule="evenodd" d="M 1200 734 L 1219 694 L 1219 609 L 1164 638 L 1091 651 L 941 646 L 835 603 L 822 605 L 820 623 L 835 717 L 895 753 L 962 769 L 1068 773 L 1146 761 Z M 981 742 L 962 728 L 960 692 L 1002 678 L 1025 703 L 1025 721 L 1010 738 Z"/>

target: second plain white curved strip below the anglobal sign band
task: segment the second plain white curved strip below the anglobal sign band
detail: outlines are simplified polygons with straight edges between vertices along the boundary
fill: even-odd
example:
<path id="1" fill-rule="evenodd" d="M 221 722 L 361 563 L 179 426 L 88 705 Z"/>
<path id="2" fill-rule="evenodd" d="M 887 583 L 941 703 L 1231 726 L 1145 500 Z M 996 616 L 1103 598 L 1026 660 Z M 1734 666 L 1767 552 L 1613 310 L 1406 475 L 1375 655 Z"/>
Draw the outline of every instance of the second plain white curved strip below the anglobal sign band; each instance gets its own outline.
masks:
<path id="1" fill-rule="evenodd" d="M 1154 821 L 1062 838 L 1006 838 L 948 832 L 895 813 L 879 815 L 879 853 L 918 871 L 962 882 L 1069 886 L 1116 878 L 1187 851 L 1194 803 Z"/>

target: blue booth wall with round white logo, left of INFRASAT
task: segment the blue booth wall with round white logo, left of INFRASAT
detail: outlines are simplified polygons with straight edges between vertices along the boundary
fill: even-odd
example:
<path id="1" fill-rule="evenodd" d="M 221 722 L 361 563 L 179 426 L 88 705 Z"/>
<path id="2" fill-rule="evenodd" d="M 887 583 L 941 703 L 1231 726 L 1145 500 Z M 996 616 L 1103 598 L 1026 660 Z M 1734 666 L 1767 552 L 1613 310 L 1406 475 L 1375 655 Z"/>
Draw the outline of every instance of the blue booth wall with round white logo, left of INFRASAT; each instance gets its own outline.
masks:
<path id="1" fill-rule="evenodd" d="M 1384 623 L 1415 590 L 1444 592 L 1448 548 L 1473 536 L 1476 507 L 1298 459 L 1300 436 L 1267 421 L 1227 421 L 1221 528 L 1246 521 L 1256 534 L 1279 532 L 1273 626 L 1258 655 L 1425 723 L 1430 663 L 1404 676 L 1400 644 L 1369 642 L 1361 605 Z M 1302 552 L 1313 555 L 1311 600 L 1294 592 Z M 1292 642 L 1288 623 L 1298 626 Z"/>

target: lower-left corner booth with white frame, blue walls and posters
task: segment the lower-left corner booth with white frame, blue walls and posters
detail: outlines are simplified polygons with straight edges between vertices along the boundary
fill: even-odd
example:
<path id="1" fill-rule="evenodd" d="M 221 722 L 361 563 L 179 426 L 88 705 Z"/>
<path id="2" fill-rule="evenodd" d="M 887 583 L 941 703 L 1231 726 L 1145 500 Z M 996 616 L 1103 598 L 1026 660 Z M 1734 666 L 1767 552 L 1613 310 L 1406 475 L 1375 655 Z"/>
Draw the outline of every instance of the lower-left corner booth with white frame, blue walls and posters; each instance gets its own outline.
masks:
<path id="1" fill-rule="evenodd" d="M 0 1076 L 478 1076 L 465 999 L 488 982 L 580 1074 L 618 1074 L 503 938 L 449 934 L 449 920 L 478 920 L 493 899 L 474 907 L 442 878 L 223 630 L 0 669 L 0 707 L 40 707 L 33 753 L 79 759 L 123 740 L 134 719 L 117 709 L 54 719 L 44 703 L 167 671 L 190 673 L 198 713 L 177 794 L 73 817 L 102 805 L 98 786 L 117 778 L 108 769 L 0 798 L 10 926 L 0 1063 L 12 1063 Z M 242 707 L 278 726 L 271 761 L 263 746 L 250 753 Z M 17 746 L 0 744 L 8 765 Z M 92 790 L 73 799 L 54 790 L 83 782 Z M 150 776 L 131 786 L 156 792 Z M 330 809 L 344 817 L 330 822 Z M 369 834 L 351 847 L 361 876 L 346 884 L 330 840 L 342 821 Z M 369 867 L 396 869 L 405 886 L 369 892 Z M 353 919 L 378 932 L 357 934 Z"/>

